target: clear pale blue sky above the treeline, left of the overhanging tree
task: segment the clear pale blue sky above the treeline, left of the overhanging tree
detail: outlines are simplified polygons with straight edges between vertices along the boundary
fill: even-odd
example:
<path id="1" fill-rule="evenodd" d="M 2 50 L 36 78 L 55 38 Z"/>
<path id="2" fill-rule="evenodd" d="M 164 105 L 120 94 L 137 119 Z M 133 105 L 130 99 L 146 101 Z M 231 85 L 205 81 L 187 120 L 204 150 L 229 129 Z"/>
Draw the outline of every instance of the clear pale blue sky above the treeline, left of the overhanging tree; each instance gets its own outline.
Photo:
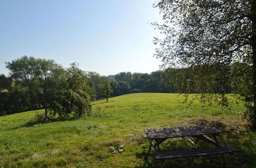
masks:
<path id="1" fill-rule="evenodd" d="M 0 1 L 0 73 L 22 55 L 101 75 L 158 70 L 154 0 Z M 148 23 L 147 23 L 148 22 Z"/>

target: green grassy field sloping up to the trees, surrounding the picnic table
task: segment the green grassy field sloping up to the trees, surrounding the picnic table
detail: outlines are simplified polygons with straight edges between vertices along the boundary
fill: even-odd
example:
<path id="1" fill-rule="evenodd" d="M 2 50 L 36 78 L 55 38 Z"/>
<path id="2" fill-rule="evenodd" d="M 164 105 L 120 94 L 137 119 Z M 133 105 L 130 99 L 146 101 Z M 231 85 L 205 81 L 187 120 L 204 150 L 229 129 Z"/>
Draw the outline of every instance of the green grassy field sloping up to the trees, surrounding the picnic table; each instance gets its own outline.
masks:
<path id="1" fill-rule="evenodd" d="M 154 161 L 147 159 L 144 128 L 210 124 L 226 130 L 221 144 L 240 153 L 227 155 L 230 167 L 256 167 L 256 133 L 237 113 L 220 106 L 182 103 L 178 94 L 137 93 L 92 102 L 93 114 L 79 120 L 28 124 L 43 110 L 0 117 L 0 167 L 221 167 L 218 156 Z M 124 144 L 123 152 L 111 147 Z M 202 148 L 212 147 L 203 142 Z M 161 147 L 160 147 L 161 148 Z M 187 139 L 170 139 L 163 151 L 194 149 Z"/>

